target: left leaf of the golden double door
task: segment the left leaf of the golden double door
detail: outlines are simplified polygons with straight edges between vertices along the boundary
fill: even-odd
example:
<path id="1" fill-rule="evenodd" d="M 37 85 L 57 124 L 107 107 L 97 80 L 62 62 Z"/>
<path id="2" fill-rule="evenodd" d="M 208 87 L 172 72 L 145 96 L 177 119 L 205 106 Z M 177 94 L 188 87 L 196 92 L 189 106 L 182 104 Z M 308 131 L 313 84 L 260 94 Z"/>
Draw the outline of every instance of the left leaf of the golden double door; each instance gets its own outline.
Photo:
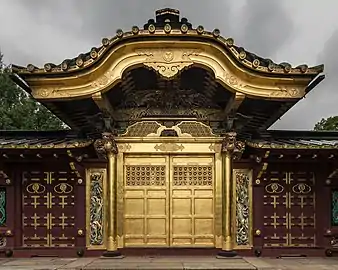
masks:
<path id="1" fill-rule="evenodd" d="M 125 246 L 169 245 L 169 157 L 125 160 Z"/>

